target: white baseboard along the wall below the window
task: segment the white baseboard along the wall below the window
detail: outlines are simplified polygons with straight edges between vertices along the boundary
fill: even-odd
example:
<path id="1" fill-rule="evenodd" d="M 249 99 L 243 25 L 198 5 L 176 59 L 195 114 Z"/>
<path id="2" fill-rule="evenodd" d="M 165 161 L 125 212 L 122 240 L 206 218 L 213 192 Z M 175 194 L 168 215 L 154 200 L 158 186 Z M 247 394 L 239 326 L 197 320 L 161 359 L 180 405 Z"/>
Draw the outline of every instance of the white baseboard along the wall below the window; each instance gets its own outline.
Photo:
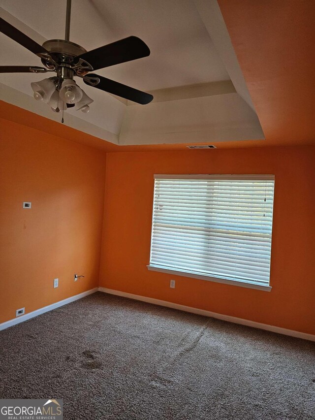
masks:
<path id="1" fill-rule="evenodd" d="M 166 300 L 154 299 L 153 297 L 140 296 L 138 294 L 126 293 L 125 291 L 107 289 L 99 287 L 99 291 L 104 293 L 115 294 L 117 296 L 128 297 L 129 299 L 141 300 L 142 302 L 153 303 L 155 305 L 166 306 L 167 308 L 178 309 L 180 311 L 191 312 L 197 315 L 204 315 L 205 317 L 217 318 L 222 321 L 230 323 L 237 323 L 251 326 L 253 328 L 265 329 L 267 331 L 277 332 L 278 334 L 290 335 L 291 337 L 303 338 L 304 340 L 315 341 L 315 335 L 307 334 L 305 332 L 293 331 L 291 329 L 281 328 L 275 325 L 268 325 L 263 323 L 256 323 L 254 321 L 244 320 L 243 318 L 231 317 L 229 315 L 217 314 L 216 312 L 205 311 L 204 309 L 192 308 L 190 306 L 179 305 L 178 303 L 168 302 Z"/>

